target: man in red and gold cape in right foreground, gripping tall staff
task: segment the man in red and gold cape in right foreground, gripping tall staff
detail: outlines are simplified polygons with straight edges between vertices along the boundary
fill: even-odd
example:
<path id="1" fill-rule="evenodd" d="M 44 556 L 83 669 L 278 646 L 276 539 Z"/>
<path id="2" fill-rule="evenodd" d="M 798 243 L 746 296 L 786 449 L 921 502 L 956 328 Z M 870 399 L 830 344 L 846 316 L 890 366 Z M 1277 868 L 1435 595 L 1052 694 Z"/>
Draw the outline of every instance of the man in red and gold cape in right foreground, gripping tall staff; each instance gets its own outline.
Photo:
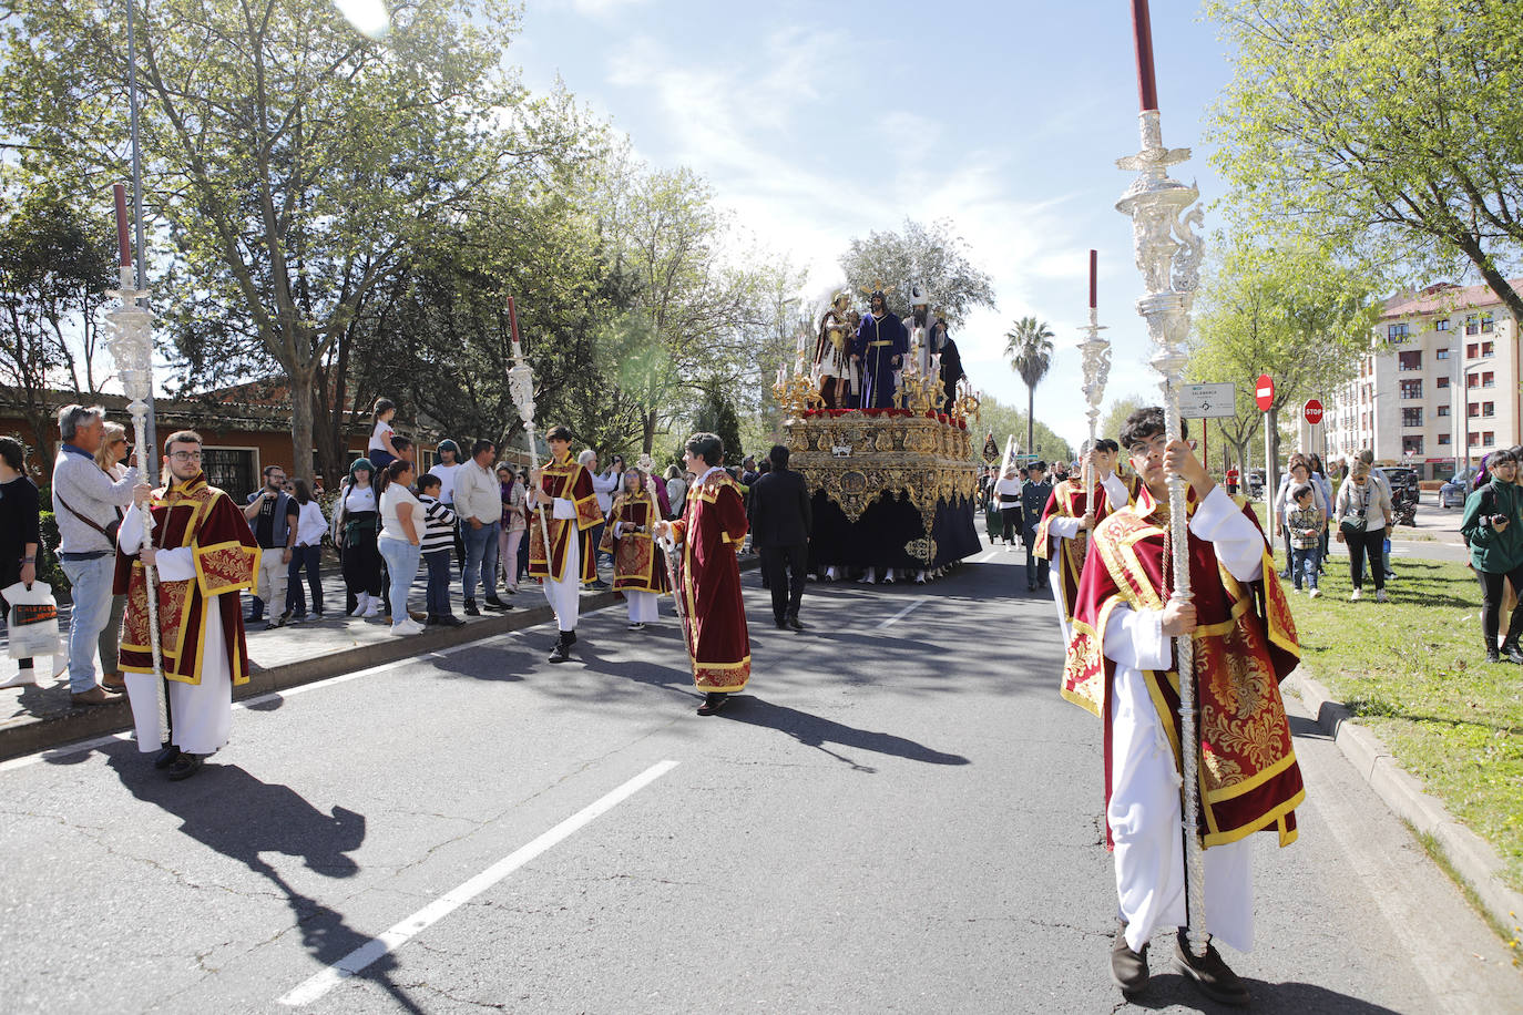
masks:
<path id="1" fill-rule="evenodd" d="M 1215 485 L 1185 441 L 1165 440 L 1162 409 L 1133 412 L 1121 444 L 1144 488 L 1094 531 L 1063 697 L 1104 723 L 1106 834 L 1121 916 L 1110 968 L 1122 992 L 1136 994 L 1147 986 L 1153 930 L 1179 927 L 1182 940 L 1188 921 L 1174 636 L 1194 638 L 1203 913 L 1217 940 L 1252 947 L 1250 834 L 1295 842 L 1293 811 L 1305 790 L 1279 697 L 1301 648 L 1258 519 Z M 1189 484 L 1194 600 L 1186 604 L 1170 601 L 1168 472 Z M 1247 1004 L 1247 989 L 1215 945 L 1196 957 L 1176 943 L 1174 959 L 1208 997 Z"/>

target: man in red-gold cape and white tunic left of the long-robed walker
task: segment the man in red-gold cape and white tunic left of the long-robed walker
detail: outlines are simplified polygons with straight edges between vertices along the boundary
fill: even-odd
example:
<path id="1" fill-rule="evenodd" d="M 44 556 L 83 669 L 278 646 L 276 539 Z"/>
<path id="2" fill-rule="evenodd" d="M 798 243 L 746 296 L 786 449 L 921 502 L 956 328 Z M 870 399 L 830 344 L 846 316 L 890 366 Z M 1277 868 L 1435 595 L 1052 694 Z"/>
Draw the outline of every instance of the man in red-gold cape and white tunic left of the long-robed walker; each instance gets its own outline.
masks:
<path id="1" fill-rule="evenodd" d="M 571 457 L 571 431 L 551 426 L 545 443 L 550 444 L 550 464 L 530 478 L 535 513 L 528 519 L 528 574 L 544 580 L 545 598 L 556 612 L 559 633 L 550 662 L 565 662 L 576 644 L 582 583 L 597 580 L 592 530 L 603 523 L 603 510 L 597 507 L 592 475 Z M 548 554 L 545 531 L 550 533 Z"/>

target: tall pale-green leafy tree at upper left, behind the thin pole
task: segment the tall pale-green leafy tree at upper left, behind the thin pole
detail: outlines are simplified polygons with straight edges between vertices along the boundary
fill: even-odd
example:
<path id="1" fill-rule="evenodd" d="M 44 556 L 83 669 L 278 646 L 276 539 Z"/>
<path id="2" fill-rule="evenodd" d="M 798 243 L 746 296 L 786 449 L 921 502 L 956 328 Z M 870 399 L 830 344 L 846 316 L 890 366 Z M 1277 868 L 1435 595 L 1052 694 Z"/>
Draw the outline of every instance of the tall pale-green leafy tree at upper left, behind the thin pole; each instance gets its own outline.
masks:
<path id="1" fill-rule="evenodd" d="M 88 0 L 14 0 L 0 116 L 26 163 L 120 173 L 125 23 Z M 329 0 L 139 8 L 146 201 L 200 313 L 177 338 L 209 367 L 273 364 L 295 461 L 326 356 L 411 245 L 490 180 L 570 146 L 501 70 L 516 12 L 399 0 L 384 44 Z M 551 102 L 553 105 L 553 102 Z M 547 184 L 550 181 L 545 181 Z M 224 374 L 225 377 L 225 374 Z"/>

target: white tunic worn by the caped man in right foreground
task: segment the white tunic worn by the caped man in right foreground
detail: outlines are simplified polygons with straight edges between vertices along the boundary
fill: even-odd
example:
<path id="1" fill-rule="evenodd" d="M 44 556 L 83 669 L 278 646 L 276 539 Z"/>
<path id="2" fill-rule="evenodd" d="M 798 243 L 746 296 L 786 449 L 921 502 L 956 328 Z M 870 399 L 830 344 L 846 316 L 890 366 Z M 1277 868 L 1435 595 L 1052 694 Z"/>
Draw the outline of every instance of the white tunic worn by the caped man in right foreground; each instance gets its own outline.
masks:
<path id="1" fill-rule="evenodd" d="M 1240 581 L 1263 577 L 1264 536 L 1217 487 L 1189 520 L 1189 531 L 1215 545 L 1217 560 Z M 1179 768 L 1153 706 L 1142 670 L 1171 662 L 1164 615 L 1118 606 L 1104 635 L 1115 662 L 1110 709 L 1110 807 L 1119 916 L 1138 951 L 1161 927 L 1183 927 L 1185 845 L 1180 834 Z M 1206 928 L 1223 943 L 1253 947 L 1253 837 L 1205 851 Z"/>

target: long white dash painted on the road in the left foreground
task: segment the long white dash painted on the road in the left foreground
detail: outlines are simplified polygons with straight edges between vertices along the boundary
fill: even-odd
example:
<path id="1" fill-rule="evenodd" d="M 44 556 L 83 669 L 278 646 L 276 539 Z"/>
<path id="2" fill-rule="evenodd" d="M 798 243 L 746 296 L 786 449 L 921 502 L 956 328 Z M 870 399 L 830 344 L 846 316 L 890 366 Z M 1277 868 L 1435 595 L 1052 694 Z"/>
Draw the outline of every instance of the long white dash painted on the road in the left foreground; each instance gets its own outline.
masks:
<path id="1" fill-rule="evenodd" d="M 647 785 L 664 776 L 667 772 L 672 772 L 672 768 L 675 768 L 676 764 L 678 762 L 675 761 L 661 761 L 658 764 L 650 765 L 649 768 L 637 775 L 624 785 L 618 787 L 617 790 L 599 799 L 597 802 L 582 808 L 567 820 L 551 828 L 544 835 L 535 838 L 527 846 L 515 849 L 513 852 L 503 857 L 501 860 L 493 863 L 490 867 L 487 867 L 477 877 L 471 878 L 465 884 L 439 896 L 423 908 L 417 910 L 416 913 L 404 919 L 401 924 L 381 934 L 379 937 L 372 937 L 359 948 L 355 948 L 347 956 L 344 956 L 334 965 L 327 966 L 326 969 L 309 978 L 306 983 L 300 985 L 299 988 L 282 997 L 280 1003 L 289 1007 L 297 1007 L 302 1004 L 311 1004 L 312 1001 L 318 1000 L 320 997 L 332 991 L 335 986 L 338 986 L 349 977 L 362 971 L 376 959 L 385 956 L 387 953 L 396 951 L 408 940 L 411 940 L 414 936 L 417 936 L 420 931 L 433 927 L 445 916 L 455 912 L 475 896 L 481 895 L 493 884 L 496 884 L 512 872 L 518 870 L 539 854 L 564 842 L 577 829 L 585 828 L 599 816 L 614 810 L 618 803 L 627 800 L 631 796 L 646 788 Z"/>

